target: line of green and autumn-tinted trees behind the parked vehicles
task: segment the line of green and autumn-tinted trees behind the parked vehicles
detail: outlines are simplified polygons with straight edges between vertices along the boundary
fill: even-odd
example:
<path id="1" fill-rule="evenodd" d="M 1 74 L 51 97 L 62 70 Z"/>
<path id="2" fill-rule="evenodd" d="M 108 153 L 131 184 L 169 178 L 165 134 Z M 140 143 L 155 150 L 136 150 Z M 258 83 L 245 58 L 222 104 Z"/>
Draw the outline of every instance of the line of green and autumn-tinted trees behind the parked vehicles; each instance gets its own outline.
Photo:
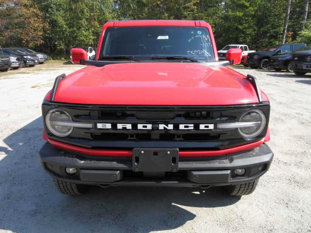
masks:
<path id="1" fill-rule="evenodd" d="M 96 48 L 111 20 L 204 20 L 217 49 L 276 43 L 311 46 L 309 0 L 0 0 L 0 46 L 28 47 L 67 56 L 71 48 Z"/>

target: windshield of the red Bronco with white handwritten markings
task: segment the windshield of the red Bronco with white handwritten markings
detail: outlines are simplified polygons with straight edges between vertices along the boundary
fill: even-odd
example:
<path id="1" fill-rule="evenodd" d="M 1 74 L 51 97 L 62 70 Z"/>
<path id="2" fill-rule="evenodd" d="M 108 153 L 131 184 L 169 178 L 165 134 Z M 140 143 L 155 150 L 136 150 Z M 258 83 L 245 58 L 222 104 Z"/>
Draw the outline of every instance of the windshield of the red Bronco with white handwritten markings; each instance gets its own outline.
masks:
<path id="1" fill-rule="evenodd" d="M 107 28 L 99 60 L 105 57 L 133 57 L 139 61 L 151 61 L 157 57 L 170 60 L 174 57 L 177 59 L 174 61 L 179 61 L 178 57 L 186 57 L 200 62 L 215 61 L 207 28 L 183 26 Z"/>

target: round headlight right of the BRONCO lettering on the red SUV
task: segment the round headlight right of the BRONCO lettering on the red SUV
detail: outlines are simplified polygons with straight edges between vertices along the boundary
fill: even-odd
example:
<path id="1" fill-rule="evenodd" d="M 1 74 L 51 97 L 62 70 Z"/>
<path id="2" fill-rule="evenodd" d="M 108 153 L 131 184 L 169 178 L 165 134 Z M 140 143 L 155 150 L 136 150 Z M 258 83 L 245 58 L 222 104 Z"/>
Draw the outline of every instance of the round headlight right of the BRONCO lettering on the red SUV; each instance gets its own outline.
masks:
<path id="1" fill-rule="evenodd" d="M 266 125 L 266 117 L 262 111 L 258 109 L 248 110 L 239 118 L 242 124 L 238 128 L 239 134 L 246 139 L 258 136 Z M 241 127 L 242 126 L 242 127 Z"/>

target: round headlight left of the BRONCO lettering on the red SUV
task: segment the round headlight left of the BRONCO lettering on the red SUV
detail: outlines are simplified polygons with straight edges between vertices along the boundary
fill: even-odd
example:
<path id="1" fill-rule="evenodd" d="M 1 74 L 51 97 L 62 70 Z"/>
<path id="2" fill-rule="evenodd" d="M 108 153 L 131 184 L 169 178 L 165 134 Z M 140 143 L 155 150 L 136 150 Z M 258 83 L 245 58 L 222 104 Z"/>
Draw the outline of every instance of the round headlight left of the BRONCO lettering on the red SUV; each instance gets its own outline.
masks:
<path id="1" fill-rule="evenodd" d="M 73 127 L 66 126 L 72 117 L 60 108 L 51 109 L 46 115 L 45 122 L 48 129 L 58 137 L 66 137 L 72 133 Z"/>

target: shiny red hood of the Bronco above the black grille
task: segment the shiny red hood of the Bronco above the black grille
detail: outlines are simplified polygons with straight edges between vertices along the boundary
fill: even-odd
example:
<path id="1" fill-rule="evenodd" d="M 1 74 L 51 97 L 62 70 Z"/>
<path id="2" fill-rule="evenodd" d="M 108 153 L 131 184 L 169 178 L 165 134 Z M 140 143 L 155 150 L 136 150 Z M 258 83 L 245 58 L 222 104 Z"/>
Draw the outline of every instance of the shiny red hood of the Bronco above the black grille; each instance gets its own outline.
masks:
<path id="1" fill-rule="evenodd" d="M 263 101 L 267 101 L 262 94 Z M 111 105 L 232 105 L 258 103 L 244 75 L 193 63 L 87 66 L 58 86 L 55 102 Z"/>

